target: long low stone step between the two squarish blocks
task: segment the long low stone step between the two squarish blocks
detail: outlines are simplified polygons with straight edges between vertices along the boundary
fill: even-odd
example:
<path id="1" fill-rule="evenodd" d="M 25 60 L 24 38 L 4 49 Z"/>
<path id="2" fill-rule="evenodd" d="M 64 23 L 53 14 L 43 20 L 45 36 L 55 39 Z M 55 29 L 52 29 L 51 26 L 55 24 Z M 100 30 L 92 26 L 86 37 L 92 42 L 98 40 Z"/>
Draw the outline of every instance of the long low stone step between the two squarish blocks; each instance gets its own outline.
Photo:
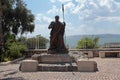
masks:
<path id="1" fill-rule="evenodd" d="M 78 71 L 76 63 L 39 64 L 38 71 Z"/>

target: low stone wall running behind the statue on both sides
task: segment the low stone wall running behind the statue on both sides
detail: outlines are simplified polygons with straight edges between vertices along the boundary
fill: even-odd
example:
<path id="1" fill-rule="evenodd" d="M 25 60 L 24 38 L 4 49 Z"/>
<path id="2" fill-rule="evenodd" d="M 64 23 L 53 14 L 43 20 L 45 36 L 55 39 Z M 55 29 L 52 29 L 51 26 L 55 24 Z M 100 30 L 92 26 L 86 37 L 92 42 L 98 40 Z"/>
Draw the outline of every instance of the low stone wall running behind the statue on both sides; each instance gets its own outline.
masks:
<path id="1" fill-rule="evenodd" d="M 27 57 L 31 57 L 32 55 L 34 54 L 41 54 L 41 53 L 47 53 L 47 49 L 38 49 L 38 50 L 29 50 L 26 52 L 26 56 Z M 87 53 L 87 57 L 88 58 L 93 58 L 94 55 L 95 57 L 101 57 L 101 58 L 104 58 L 105 57 L 105 52 L 117 52 L 119 53 L 118 54 L 118 57 L 120 57 L 120 51 L 118 49 L 69 49 L 69 52 L 71 51 L 75 51 L 75 52 L 83 52 L 83 53 Z"/>

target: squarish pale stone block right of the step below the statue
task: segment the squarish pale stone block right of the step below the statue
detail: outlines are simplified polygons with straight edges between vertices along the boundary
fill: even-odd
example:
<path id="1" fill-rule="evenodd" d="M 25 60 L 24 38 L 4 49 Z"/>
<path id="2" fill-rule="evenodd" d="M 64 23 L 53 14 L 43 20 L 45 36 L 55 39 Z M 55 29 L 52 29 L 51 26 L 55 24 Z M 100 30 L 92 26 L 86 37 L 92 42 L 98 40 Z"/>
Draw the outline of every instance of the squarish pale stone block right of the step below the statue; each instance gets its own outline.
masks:
<path id="1" fill-rule="evenodd" d="M 95 61 L 78 60 L 78 71 L 80 72 L 95 72 L 97 71 L 97 63 Z"/>

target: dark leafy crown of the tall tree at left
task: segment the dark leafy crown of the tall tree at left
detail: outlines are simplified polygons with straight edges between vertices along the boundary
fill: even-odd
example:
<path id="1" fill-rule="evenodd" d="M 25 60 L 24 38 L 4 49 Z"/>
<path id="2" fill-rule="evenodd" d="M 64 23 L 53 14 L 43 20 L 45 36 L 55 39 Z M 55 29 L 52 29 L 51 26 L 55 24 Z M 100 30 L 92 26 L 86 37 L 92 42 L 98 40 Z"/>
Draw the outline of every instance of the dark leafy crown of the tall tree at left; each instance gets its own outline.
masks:
<path id="1" fill-rule="evenodd" d="M 3 34 L 33 32 L 34 15 L 22 0 L 0 0 L 2 3 Z"/>

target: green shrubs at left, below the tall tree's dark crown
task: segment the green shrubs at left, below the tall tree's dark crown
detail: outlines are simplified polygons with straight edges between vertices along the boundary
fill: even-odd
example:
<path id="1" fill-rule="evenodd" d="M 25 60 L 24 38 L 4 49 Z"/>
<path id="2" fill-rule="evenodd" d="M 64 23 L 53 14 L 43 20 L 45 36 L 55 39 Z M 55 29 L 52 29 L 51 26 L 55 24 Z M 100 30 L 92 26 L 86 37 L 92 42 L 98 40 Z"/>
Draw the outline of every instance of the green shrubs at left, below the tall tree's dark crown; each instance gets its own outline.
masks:
<path id="1" fill-rule="evenodd" d="M 16 41 L 15 36 L 8 34 L 5 36 L 4 53 L 0 55 L 1 61 L 9 61 L 22 56 L 22 52 L 26 51 L 24 44 Z"/>

